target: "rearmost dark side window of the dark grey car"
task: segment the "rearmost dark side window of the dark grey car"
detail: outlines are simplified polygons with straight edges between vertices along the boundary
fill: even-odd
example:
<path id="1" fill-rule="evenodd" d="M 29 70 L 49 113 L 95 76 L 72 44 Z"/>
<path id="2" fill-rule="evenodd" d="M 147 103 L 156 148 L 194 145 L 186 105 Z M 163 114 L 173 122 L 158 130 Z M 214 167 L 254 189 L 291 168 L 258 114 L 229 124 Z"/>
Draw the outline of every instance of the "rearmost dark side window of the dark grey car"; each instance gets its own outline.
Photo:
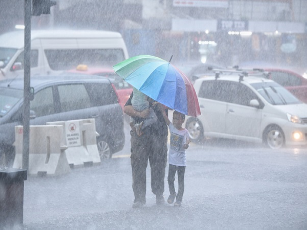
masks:
<path id="1" fill-rule="evenodd" d="M 91 95 L 92 106 L 111 105 L 118 103 L 117 95 L 110 83 L 86 83 L 85 86 L 88 94 Z"/>

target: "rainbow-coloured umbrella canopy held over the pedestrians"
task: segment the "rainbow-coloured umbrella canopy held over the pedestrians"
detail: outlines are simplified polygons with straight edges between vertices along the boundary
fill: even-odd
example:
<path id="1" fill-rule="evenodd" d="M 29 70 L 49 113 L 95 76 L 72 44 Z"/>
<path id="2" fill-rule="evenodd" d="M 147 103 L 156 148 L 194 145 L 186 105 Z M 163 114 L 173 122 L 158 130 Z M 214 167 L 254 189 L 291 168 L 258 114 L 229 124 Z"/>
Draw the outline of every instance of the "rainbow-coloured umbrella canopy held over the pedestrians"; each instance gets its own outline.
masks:
<path id="1" fill-rule="evenodd" d="M 153 100 L 188 116 L 200 115 L 192 83 L 171 63 L 158 57 L 140 55 L 116 64 L 113 69 Z"/>

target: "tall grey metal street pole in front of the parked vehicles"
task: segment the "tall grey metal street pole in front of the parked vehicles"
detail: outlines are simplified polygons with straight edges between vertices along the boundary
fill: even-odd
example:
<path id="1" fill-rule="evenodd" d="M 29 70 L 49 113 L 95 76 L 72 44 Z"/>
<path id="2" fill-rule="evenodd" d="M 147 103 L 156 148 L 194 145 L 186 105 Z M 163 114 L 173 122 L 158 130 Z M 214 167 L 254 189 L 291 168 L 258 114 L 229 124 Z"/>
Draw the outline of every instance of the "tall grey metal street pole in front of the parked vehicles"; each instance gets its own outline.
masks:
<path id="1" fill-rule="evenodd" d="M 23 141 L 22 141 L 22 169 L 29 171 L 29 143 L 30 143 L 30 74 L 31 74 L 31 16 L 32 0 L 25 0 L 25 66 L 23 92 Z"/>

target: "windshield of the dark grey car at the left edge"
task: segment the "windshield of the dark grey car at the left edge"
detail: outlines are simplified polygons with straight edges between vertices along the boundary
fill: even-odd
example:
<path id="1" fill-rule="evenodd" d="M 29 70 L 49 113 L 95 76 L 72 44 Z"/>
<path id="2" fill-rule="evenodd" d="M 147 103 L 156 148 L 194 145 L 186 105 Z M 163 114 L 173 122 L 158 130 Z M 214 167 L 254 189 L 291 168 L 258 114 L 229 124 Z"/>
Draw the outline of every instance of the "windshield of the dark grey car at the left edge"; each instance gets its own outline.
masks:
<path id="1" fill-rule="evenodd" d="M 0 117 L 6 115 L 22 97 L 23 90 L 0 88 Z"/>

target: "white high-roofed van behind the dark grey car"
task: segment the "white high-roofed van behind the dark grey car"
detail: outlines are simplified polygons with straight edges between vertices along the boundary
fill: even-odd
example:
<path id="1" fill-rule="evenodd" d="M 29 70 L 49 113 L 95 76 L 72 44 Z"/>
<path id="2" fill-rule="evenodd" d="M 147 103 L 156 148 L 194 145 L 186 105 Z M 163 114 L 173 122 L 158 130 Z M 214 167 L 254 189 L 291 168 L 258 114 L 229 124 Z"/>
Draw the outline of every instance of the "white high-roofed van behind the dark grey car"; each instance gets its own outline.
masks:
<path id="1" fill-rule="evenodd" d="M 0 36 L 0 80 L 23 75 L 24 30 Z M 128 58 L 120 33 L 97 30 L 31 31 L 31 75 L 60 74 L 79 64 L 112 67 Z"/>

